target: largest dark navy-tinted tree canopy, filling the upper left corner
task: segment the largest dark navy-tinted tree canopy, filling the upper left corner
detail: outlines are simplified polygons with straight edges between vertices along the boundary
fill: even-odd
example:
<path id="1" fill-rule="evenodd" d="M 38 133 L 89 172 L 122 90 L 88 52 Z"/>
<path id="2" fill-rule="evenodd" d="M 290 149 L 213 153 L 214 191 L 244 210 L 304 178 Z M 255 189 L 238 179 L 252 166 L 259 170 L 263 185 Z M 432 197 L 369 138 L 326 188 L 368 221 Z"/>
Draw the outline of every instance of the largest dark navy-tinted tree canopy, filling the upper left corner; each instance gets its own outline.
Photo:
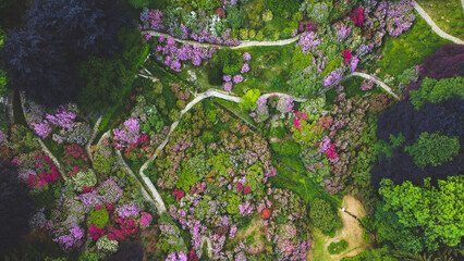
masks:
<path id="1" fill-rule="evenodd" d="M 51 105 L 75 97 L 82 61 L 122 50 L 120 28 L 131 25 L 129 13 L 113 0 L 36 1 L 26 21 L 26 29 L 7 37 L 2 65 L 13 89 Z"/>

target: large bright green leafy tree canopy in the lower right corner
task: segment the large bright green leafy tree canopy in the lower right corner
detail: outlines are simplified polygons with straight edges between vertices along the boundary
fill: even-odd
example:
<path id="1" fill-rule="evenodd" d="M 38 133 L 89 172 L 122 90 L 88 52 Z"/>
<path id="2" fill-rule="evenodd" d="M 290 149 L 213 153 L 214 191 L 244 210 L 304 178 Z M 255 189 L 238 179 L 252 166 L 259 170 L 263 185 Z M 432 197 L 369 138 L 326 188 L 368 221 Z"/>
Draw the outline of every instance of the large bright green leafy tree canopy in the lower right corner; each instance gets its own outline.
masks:
<path id="1" fill-rule="evenodd" d="M 404 182 L 394 186 L 383 179 L 379 194 L 383 198 L 376 211 L 379 238 L 406 251 L 437 250 L 454 247 L 464 236 L 464 176 L 430 179 L 424 186 Z"/>

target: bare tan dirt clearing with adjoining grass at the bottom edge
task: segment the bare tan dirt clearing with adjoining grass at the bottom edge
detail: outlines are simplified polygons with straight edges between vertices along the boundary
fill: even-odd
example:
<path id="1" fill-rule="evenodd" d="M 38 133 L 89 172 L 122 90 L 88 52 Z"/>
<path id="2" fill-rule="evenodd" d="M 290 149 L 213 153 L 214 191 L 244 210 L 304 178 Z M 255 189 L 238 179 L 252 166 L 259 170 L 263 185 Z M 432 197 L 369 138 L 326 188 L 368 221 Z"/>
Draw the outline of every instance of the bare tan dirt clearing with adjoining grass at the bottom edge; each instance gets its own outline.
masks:
<path id="1" fill-rule="evenodd" d="M 345 208 L 350 213 L 359 219 L 366 215 L 363 204 L 350 195 L 343 197 L 342 208 Z M 344 257 L 354 257 L 369 247 L 369 244 L 363 240 L 363 228 L 359 226 L 359 223 L 346 212 L 341 212 L 341 217 L 343 228 L 337 231 L 335 236 L 332 238 L 325 236 L 317 228 L 312 229 L 314 248 L 310 250 L 306 260 L 338 261 Z M 347 249 L 339 254 L 330 254 L 327 247 L 332 241 L 340 241 L 341 239 L 344 239 L 349 244 Z"/>

